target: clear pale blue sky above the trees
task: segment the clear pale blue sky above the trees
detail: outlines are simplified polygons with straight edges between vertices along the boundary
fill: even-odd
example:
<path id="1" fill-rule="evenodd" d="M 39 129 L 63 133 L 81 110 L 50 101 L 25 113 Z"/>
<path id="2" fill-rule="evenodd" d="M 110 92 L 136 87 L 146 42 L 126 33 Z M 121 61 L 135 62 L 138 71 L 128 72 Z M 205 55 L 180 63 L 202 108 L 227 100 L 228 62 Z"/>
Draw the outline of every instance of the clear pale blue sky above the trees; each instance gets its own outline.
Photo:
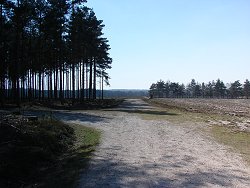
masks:
<path id="1" fill-rule="evenodd" d="M 88 0 L 113 58 L 109 89 L 250 79 L 250 0 Z M 107 88 L 108 89 L 108 88 Z"/>

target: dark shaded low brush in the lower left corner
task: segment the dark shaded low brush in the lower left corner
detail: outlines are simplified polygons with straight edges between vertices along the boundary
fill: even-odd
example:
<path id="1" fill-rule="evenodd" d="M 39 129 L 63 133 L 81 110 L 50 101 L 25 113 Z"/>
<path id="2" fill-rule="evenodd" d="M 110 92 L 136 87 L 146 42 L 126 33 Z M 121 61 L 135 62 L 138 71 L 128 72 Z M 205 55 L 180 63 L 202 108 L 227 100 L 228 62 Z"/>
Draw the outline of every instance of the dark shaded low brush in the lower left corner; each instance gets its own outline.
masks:
<path id="1" fill-rule="evenodd" d="M 0 182 L 6 187 L 36 180 L 75 141 L 74 129 L 56 120 L 29 122 L 9 116 L 0 123 Z"/>

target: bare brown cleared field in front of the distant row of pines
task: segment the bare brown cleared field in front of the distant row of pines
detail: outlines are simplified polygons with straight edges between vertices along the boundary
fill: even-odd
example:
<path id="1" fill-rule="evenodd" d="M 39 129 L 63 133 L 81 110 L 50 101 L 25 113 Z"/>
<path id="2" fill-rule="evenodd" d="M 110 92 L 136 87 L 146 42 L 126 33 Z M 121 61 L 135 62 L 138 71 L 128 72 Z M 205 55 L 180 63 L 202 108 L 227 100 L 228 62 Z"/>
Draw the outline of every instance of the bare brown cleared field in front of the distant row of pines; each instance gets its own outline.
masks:
<path id="1" fill-rule="evenodd" d="M 250 132 L 250 100 L 247 99 L 153 99 L 149 103 L 164 109 L 204 117 L 209 124 L 237 127 Z"/>

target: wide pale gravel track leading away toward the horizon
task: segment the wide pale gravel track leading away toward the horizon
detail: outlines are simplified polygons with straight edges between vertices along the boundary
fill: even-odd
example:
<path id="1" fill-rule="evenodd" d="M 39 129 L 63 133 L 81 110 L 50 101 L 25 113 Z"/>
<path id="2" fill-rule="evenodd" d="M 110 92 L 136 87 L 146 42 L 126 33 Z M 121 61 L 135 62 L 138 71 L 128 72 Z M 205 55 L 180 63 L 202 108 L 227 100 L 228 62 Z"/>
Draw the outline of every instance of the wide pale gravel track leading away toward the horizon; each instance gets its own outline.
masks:
<path id="1" fill-rule="evenodd" d="M 195 127 L 130 113 L 152 107 L 127 100 L 114 111 L 60 114 L 103 132 L 79 187 L 250 187 L 250 168 Z"/>

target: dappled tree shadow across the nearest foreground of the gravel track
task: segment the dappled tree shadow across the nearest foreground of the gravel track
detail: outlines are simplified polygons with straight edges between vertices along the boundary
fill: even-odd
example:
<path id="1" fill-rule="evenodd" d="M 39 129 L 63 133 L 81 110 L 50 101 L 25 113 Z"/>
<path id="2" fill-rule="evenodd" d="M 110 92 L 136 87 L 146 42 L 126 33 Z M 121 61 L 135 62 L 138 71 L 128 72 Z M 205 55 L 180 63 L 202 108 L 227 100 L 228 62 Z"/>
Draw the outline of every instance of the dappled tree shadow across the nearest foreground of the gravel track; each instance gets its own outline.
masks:
<path id="1" fill-rule="evenodd" d="M 191 157 L 184 157 L 182 161 L 174 159 L 176 159 L 175 156 L 167 156 L 161 163 L 153 161 L 133 163 L 129 160 L 115 160 L 112 156 L 108 159 L 106 156 L 95 156 L 89 169 L 82 173 L 78 187 L 198 188 L 250 184 L 250 177 L 244 176 L 244 172 L 236 175 L 236 171 L 226 168 L 223 170 L 210 168 L 202 171 L 199 166 L 192 166 L 193 169 L 189 169 L 190 163 L 194 163 L 196 159 Z"/>

